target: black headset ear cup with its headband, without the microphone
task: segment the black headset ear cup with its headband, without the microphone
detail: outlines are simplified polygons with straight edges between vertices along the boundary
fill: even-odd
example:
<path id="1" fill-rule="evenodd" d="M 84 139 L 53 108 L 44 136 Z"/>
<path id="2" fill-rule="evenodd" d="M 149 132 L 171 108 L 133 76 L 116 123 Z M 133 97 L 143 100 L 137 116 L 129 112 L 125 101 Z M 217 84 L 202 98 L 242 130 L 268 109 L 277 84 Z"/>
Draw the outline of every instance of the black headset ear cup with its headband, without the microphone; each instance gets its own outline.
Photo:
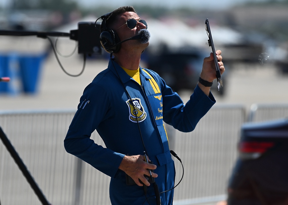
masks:
<path id="1" fill-rule="evenodd" d="M 100 34 L 100 43 L 105 51 L 108 53 L 117 53 L 121 49 L 120 38 L 118 34 L 106 26 L 106 20 L 111 16 L 111 13 L 106 13 L 101 16 L 103 32 Z M 97 19 L 98 20 L 98 19 Z M 96 20 L 96 21 L 97 21 Z M 96 24 L 96 22 L 95 22 Z M 118 44 L 118 45 L 117 45 Z"/>

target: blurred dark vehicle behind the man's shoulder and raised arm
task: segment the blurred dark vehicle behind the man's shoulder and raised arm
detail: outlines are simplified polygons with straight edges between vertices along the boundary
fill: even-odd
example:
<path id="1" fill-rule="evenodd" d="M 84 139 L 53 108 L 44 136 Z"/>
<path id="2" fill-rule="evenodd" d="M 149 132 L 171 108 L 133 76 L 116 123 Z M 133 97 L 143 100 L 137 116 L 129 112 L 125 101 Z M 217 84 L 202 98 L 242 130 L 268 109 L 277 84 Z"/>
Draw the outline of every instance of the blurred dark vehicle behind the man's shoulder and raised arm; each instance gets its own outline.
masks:
<path id="1" fill-rule="evenodd" d="M 209 55 L 210 52 L 204 52 L 194 47 L 165 50 L 157 55 L 148 55 L 147 68 L 158 73 L 174 92 L 184 89 L 194 90 L 198 84 L 203 59 Z M 225 80 L 223 82 L 225 85 Z M 217 86 L 218 82 L 215 80 L 211 89 L 218 91 Z M 223 95 L 224 90 L 224 87 L 221 87 L 219 94 Z"/>

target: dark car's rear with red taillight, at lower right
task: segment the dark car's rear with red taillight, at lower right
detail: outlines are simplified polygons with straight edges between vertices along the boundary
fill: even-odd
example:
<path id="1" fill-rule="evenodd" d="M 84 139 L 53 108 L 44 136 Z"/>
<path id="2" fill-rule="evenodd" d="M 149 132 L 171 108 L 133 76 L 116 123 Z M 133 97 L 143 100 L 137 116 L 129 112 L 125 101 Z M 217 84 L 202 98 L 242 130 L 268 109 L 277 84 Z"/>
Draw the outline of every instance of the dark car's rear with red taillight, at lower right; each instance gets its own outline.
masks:
<path id="1" fill-rule="evenodd" d="M 288 118 L 245 123 L 228 205 L 288 204 Z"/>

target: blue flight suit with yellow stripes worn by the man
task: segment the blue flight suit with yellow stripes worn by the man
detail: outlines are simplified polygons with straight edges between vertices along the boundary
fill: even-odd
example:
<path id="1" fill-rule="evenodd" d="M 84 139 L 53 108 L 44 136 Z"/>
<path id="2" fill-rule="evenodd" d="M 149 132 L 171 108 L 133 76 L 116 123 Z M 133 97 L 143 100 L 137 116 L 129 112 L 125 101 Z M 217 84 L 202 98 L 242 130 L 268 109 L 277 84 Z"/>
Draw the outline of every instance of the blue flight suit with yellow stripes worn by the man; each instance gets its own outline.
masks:
<path id="1" fill-rule="evenodd" d="M 141 86 L 110 59 L 108 68 L 85 88 L 64 140 L 67 152 L 111 177 L 111 204 L 156 204 L 153 185 L 147 187 L 145 196 L 143 187 L 126 185 L 126 174 L 118 169 L 125 155 L 143 155 L 138 123 L 147 155 L 157 165 L 155 181 L 163 192 L 173 188 L 175 180 L 163 121 L 190 132 L 215 103 L 211 93 L 206 96 L 196 86 L 184 105 L 179 95 L 152 70 L 140 68 L 140 80 Z M 95 129 L 106 148 L 90 139 Z M 160 195 L 162 205 L 173 203 L 173 190 Z"/>

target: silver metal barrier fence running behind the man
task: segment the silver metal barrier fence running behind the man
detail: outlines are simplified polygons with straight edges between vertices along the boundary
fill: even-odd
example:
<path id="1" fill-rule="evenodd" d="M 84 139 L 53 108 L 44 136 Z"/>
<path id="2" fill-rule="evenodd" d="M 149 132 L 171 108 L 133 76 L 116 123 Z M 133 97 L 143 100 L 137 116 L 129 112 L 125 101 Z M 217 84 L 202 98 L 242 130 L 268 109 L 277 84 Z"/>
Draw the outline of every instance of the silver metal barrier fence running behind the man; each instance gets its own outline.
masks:
<path id="1" fill-rule="evenodd" d="M 0 126 L 16 148 L 44 195 L 53 205 L 110 204 L 109 177 L 68 154 L 63 146 L 74 111 L 2 112 Z M 174 204 L 225 196 L 236 159 L 242 106 L 213 107 L 191 133 L 166 125 L 170 148 L 182 159 L 184 179 L 175 188 Z M 104 146 L 95 131 L 91 137 Z M 40 204 L 0 143 L 0 200 L 3 205 Z M 176 182 L 182 167 L 175 160 Z"/>

